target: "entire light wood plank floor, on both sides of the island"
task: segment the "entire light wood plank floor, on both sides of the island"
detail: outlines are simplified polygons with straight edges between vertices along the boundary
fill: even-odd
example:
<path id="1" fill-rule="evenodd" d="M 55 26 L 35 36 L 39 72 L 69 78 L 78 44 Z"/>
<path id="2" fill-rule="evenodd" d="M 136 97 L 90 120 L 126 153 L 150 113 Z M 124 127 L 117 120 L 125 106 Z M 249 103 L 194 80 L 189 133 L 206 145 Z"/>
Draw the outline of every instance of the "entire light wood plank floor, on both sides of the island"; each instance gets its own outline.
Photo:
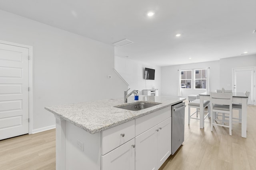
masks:
<path id="1" fill-rule="evenodd" d="M 211 132 L 208 118 L 204 129 L 199 128 L 199 120 L 191 119 L 188 125 L 186 107 L 183 146 L 160 170 L 256 170 L 256 106 L 247 108 L 245 139 L 240 123 L 233 123 L 232 136 L 225 127 L 217 126 Z M 55 129 L 0 141 L 0 169 L 54 170 Z"/>

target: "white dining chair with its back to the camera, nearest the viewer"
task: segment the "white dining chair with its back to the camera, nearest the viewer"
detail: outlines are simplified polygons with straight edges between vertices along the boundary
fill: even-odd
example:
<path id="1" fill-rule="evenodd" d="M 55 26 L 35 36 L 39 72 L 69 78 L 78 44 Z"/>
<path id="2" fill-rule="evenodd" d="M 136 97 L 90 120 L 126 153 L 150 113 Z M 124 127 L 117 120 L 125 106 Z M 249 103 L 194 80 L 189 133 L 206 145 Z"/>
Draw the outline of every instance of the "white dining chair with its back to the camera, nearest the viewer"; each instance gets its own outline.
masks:
<path id="1" fill-rule="evenodd" d="M 210 93 L 210 113 L 211 113 L 211 131 L 213 131 L 213 126 L 218 125 L 222 127 L 229 128 L 229 135 L 232 135 L 232 93 Z M 224 125 L 223 119 L 216 119 L 216 114 L 224 113 L 229 115 L 229 124 Z M 222 116 L 225 118 L 225 115 Z M 230 119 L 231 117 L 231 119 Z M 217 123 L 217 121 L 221 121 L 222 124 Z"/>

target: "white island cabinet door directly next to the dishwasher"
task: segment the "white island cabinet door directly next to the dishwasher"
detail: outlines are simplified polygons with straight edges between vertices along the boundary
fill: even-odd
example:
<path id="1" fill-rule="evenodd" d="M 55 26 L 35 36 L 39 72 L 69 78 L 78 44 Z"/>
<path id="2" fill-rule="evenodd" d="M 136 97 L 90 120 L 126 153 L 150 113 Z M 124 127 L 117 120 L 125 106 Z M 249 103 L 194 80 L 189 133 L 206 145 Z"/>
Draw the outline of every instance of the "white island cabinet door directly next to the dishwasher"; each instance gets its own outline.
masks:
<path id="1" fill-rule="evenodd" d="M 171 154 L 171 117 L 158 124 L 158 168 Z"/>

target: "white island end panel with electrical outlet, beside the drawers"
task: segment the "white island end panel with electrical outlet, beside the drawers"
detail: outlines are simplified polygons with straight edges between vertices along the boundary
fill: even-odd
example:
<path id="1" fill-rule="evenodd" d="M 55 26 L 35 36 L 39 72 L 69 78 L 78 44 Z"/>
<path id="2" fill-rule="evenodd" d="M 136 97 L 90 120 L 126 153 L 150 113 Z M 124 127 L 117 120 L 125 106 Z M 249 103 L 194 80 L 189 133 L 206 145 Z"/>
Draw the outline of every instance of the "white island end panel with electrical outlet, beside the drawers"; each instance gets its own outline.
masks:
<path id="1" fill-rule="evenodd" d="M 101 169 L 101 132 L 90 134 L 66 123 L 66 169 Z"/>

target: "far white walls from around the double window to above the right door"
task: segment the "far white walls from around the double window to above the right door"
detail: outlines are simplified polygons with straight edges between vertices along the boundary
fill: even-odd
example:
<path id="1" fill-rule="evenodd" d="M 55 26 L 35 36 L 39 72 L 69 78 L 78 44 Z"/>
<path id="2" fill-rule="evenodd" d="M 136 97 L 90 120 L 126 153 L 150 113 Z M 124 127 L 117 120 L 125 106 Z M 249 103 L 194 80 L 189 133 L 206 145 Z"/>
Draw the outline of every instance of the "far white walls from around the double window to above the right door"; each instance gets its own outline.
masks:
<path id="1" fill-rule="evenodd" d="M 162 96 L 177 96 L 178 70 L 210 67 L 210 90 L 232 90 L 232 68 L 256 66 L 256 55 L 245 55 L 220 59 L 205 63 L 182 64 L 162 67 Z M 200 94 L 206 90 L 182 89 L 182 97 L 190 94 Z"/>

